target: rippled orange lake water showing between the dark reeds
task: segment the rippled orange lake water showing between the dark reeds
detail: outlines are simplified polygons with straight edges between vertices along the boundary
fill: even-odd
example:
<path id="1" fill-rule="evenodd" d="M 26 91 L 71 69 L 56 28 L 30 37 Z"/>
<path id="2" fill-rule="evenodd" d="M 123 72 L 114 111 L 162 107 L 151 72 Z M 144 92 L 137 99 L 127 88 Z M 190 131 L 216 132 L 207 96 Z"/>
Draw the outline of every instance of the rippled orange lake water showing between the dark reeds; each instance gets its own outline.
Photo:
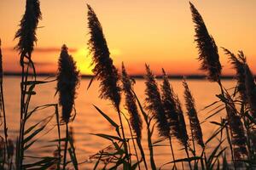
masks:
<path id="1" fill-rule="evenodd" d="M 40 77 L 44 79 L 44 77 Z M 183 103 L 183 86 L 182 80 L 170 80 L 174 91 L 178 94 L 181 102 Z M 75 120 L 70 124 L 73 132 L 73 140 L 76 147 L 77 157 L 79 162 L 86 161 L 81 164 L 80 167 L 83 169 L 90 169 L 94 164 L 90 162 L 89 157 L 96 154 L 99 150 L 105 148 L 110 144 L 107 140 L 103 140 L 99 137 L 96 137 L 90 133 L 108 133 L 114 134 L 114 129 L 109 125 L 109 123 L 96 111 L 93 105 L 98 106 L 102 111 L 104 111 L 108 116 L 111 116 L 113 120 L 118 122 L 118 115 L 113 110 L 110 102 L 98 98 L 98 82 L 93 82 L 90 86 L 90 89 L 87 90 L 90 80 L 82 79 L 78 89 L 78 96 L 75 100 L 77 116 Z M 212 104 L 212 102 L 218 100 L 215 94 L 219 94 L 218 84 L 214 82 L 207 82 L 206 80 L 188 80 L 189 88 L 194 94 L 195 104 L 197 111 L 199 111 L 199 119 L 201 122 L 205 120 L 207 116 L 210 115 L 208 111 L 201 111 L 206 105 Z M 223 81 L 225 88 L 232 88 L 235 86 L 235 81 L 224 80 Z M 58 100 L 58 96 L 55 96 L 55 84 L 56 82 L 50 82 L 48 84 L 38 85 L 36 88 L 37 95 L 32 97 L 32 102 L 30 109 L 38 105 L 46 105 L 50 103 L 55 103 Z M 19 133 L 19 119 L 20 119 L 20 77 L 4 77 L 3 80 L 4 96 L 5 96 L 5 107 L 8 119 L 9 127 L 9 138 L 15 140 Z M 137 96 L 143 103 L 144 96 L 144 81 L 136 80 L 135 91 Z M 122 104 L 123 106 L 123 104 Z M 183 107 L 184 109 L 184 107 Z M 61 110 L 60 110 L 61 111 Z M 125 109 L 123 107 L 123 111 Z M 184 111 L 184 110 L 183 110 Z M 36 112 L 30 120 L 27 122 L 27 127 L 31 126 L 44 117 L 54 114 L 55 109 L 49 108 L 43 111 Z M 224 113 L 219 113 L 216 116 L 213 116 L 207 122 L 202 123 L 203 137 L 206 140 L 213 131 L 217 128 L 212 125 L 210 121 L 219 122 L 220 116 L 224 116 Z M 186 123 L 189 124 L 189 121 L 186 116 Z M 145 123 L 144 123 L 145 124 Z M 127 123 L 125 123 L 127 129 Z M 48 132 L 50 129 L 52 131 Z M 188 127 L 187 127 L 188 128 Z M 187 129 L 189 132 L 189 128 Z M 1 127 L 1 133 L 3 134 L 3 129 Z M 44 133 L 47 133 L 44 135 Z M 49 122 L 49 126 L 44 130 L 44 133 L 38 135 L 38 141 L 26 151 L 26 156 L 52 156 L 54 150 L 56 149 L 56 143 L 49 142 L 49 140 L 57 139 L 56 127 L 55 127 L 55 117 Z M 62 134 L 64 131 L 62 129 Z M 128 136 L 128 131 L 127 131 Z M 64 137 L 64 136 L 62 136 Z M 148 149 L 147 149 L 147 133 L 145 127 L 143 128 L 143 146 L 146 150 L 147 159 Z M 158 134 L 155 131 L 153 140 L 158 140 Z M 49 144 L 55 144 L 55 146 L 49 147 Z M 163 143 L 165 144 L 165 143 Z M 182 158 L 183 150 L 182 146 L 177 143 L 176 140 L 173 141 L 174 150 L 176 158 Z M 214 144 L 213 144 L 214 145 Z M 211 150 L 212 145 L 207 146 L 208 152 Z M 171 150 L 169 146 L 158 146 L 154 147 L 154 158 L 157 164 L 157 167 L 160 167 L 162 164 L 167 161 L 171 161 Z M 31 158 L 26 158 L 26 161 L 32 161 Z M 149 161 L 148 161 L 149 162 Z M 168 166 L 166 169 L 170 168 Z M 164 168 L 164 169 L 165 169 Z"/>

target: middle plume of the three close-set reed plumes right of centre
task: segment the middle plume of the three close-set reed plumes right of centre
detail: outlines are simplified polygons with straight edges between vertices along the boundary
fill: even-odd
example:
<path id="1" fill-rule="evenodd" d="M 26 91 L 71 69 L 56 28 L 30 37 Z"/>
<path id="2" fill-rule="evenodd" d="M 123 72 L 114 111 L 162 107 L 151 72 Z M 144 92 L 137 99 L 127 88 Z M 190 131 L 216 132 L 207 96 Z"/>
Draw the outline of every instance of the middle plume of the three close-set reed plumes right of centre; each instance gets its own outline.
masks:
<path id="1" fill-rule="evenodd" d="M 175 102 L 175 94 L 173 92 L 173 88 L 168 81 L 168 77 L 166 75 L 166 71 L 163 71 L 163 83 L 161 85 L 161 92 L 162 92 L 162 103 L 164 109 L 166 111 L 166 117 L 168 119 L 168 124 L 170 127 L 170 133 L 173 136 L 178 135 L 179 127 L 178 127 L 178 115 L 177 115 L 177 105 Z"/>

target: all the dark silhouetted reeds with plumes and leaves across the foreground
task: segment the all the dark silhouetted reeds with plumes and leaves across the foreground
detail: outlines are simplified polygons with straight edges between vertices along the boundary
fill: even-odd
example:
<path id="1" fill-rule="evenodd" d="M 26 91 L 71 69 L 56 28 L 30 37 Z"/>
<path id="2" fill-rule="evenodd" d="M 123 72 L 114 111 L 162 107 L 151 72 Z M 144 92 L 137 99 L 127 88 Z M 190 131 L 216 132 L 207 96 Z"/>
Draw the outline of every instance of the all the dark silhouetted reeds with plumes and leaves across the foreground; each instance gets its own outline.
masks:
<path id="1" fill-rule="evenodd" d="M 256 84 L 246 56 L 242 51 L 238 51 L 236 55 L 223 48 L 236 71 L 237 82 L 235 88 L 226 89 L 221 80 L 222 65 L 219 61 L 218 46 L 209 34 L 199 11 L 194 4 L 189 3 L 189 5 L 195 24 L 195 42 L 198 48 L 198 60 L 201 62 L 200 68 L 206 72 L 207 79 L 210 82 L 217 82 L 220 88 L 219 94 L 216 94 L 218 101 L 207 105 L 201 111 L 196 109 L 196 101 L 189 88 L 189 82 L 183 80 L 184 102 L 182 103 L 172 88 L 172 80 L 169 79 L 166 71 L 162 69 L 162 77 L 158 80 L 147 64 L 145 64 L 146 88 L 143 105 L 133 88 L 135 81 L 126 71 L 125 65 L 122 63 L 120 72 L 113 65 L 102 25 L 93 8 L 87 5 L 90 34 L 87 45 L 92 57 L 91 65 L 94 66 L 92 70 L 94 77 L 100 82 L 99 97 L 108 99 L 119 117 L 119 122 L 115 122 L 112 117 L 94 105 L 96 111 L 115 130 L 115 134 L 92 134 L 110 143 L 90 156 L 90 161 L 95 161 L 94 169 L 161 169 L 165 166 L 171 166 L 172 169 L 254 169 L 256 167 Z M 39 0 L 26 0 L 25 14 L 15 34 L 15 38 L 18 39 L 15 49 L 20 54 L 22 73 L 20 132 L 15 144 L 8 136 L 0 40 L 0 116 L 1 121 L 3 118 L 1 127 L 4 133 L 3 137 L 0 135 L 0 169 L 79 169 L 80 165 L 88 162 L 78 161 L 73 128 L 69 126 L 76 115 L 75 99 L 79 86 L 79 71 L 72 55 L 68 54 L 66 45 L 61 48 L 56 77 L 52 80 L 37 78 L 32 52 L 38 40 L 36 31 L 41 18 Z M 32 77 L 28 77 L 31 71 Z M 93 79 L 90 84 L 92 81 Z M 58 102 L 32 107 L 30 101 L 34 95 L 37 95 L 35 87 L 49 82 L 56 82 Z M 159 82 L 161 82 L 160 86 Z M 124 107 L 121 105 L 122 97 L 124 97 Z M 31 121 L 32 116 L 50 108 L 53 109 L 53 113 L 49 116 L 42 114 L 42 120 L 28 126 L 27 122 Z M 211 108 L 211 115 L 201 120 L 199 117 L 202 112 L 207 111 L 207 108 Z M 208 121 L 210 117 L 223 110 L 225 115 L 220 122 Z M 189 123 L 185 121 L 186 116 Z M 212 123 L 216 126 L 216 130 L 208 139 L 203 136 L 204 128 L 201 127 L 203 123 Z M 54 126 L 49 131 L 55 130 L 57 133 L 55 139 L 49 141 L 45 147 L 54 150 L 53 154 L 41 157 L 28 155 L 28 150 L 32 150 L 32 146 L 49 133 L 46 127 L 50 124 Z M 157 131 L 154 127 L 157 127 Z M 143 133 L 143 128 L 146 133 Z M 65 137 L 62 137 L 63 129 Z M 153 139 L 154 133 L 158 133 L 156 141 Z M 184 151 L 183 156 L 177 156 L 178 150 L 175 150 L 173 145 Z M 160 165 L 154 159 L 154 149 L 166 146 L 171 149 L 170 161 Z M 228 161 L 228 155 L 231 161 Z M 26 161 L 28 157 L 31 158 L 30 161 Z"/>

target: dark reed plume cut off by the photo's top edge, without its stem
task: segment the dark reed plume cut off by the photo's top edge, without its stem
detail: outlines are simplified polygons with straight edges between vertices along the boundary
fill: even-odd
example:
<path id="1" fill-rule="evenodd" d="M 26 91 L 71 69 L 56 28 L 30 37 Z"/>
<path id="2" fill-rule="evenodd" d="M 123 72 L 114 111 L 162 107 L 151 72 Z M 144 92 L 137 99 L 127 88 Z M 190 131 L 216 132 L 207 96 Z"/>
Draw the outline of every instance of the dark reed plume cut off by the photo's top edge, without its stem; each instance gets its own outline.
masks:
<path id="1" fill-rule="evenodd" d="M 20 65 L 23 65 L 26 54 L 28 58 L 31 57 L 34 44 L 38 41 L 36 30 L 41 19 L 39 0 L 26 0 L 26 11 L 20 20 L 20 29 L 15 34 L 15 38 L 19 38 L 15 49 L 20 53 Z"/>

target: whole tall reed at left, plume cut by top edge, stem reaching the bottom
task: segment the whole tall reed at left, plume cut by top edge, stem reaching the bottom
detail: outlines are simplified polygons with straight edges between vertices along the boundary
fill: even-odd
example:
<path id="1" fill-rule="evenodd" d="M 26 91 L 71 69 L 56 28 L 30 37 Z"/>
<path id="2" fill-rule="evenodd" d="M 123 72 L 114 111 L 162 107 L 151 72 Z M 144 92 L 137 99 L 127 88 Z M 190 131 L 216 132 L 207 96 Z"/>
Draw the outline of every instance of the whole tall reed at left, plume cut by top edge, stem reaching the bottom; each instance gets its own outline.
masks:
<path id="1" fill-rule="evenodd" d="M 32 63 L 32 51 L 34 44 L 37 42 L 36 30 L 38 28 L 38 21 L 42 19 L 40 11 L 40 3 L 38 0 L 26 0 L 26 10 L 22 19 L 20 20 L 20 29 L 15 34 L 15 39 L 18 38 L 19 42 L 15 49 L 20 54 L 20 65 L 22 69 L 22 77 L 20 83 L 20 137 L 17 146 L 17 168 L 22 168 L 22 162 L 24 158 L 24 130 L 26 124 L 26 116 L 29 101 L 31 99 L 30 94 L 26 94 L 27 77 L 30 65 L 32 65 L 34 77 L 36 77 L 35 69 Z M 25 62 L 27 59 L 28 64 Z M 26 68 L 25 68 L 26 65 Z M 27 96 L 27 97 L 26 97 Z"/>

